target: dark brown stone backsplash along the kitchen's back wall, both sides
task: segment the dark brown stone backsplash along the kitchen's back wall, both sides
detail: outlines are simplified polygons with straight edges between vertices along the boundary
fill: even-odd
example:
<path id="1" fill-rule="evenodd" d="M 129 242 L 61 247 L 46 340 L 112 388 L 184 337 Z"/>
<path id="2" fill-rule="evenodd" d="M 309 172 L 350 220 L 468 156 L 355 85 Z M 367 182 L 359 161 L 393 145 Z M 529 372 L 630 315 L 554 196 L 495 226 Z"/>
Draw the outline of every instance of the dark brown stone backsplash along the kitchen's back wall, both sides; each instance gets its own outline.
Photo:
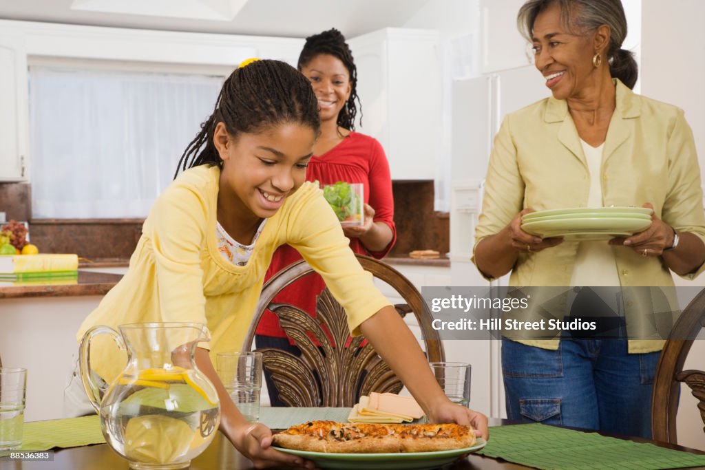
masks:
<path id="1" fill-rule="evenodd" d="M 447 213 L 434 212 L 434 183 L 395 181 L 397 242 L 389 256 L 415 249 L 449 249 Z M 30 221 L 32 242 L 45 253 L 78 253 L 87 259 L 128 259 L 140 238 L 139 219 L 32 219 L 30 185 L 0 183 L 0 211 L 8 220 Z"/>

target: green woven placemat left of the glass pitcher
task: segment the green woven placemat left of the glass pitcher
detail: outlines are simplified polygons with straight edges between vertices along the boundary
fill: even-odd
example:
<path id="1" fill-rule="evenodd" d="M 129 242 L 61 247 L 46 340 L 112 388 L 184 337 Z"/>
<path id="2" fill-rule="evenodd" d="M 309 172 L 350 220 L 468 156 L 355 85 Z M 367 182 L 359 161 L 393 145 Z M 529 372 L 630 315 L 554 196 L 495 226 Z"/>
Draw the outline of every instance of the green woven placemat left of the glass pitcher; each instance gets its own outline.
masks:
<path id="1" fill-rule="evenodd" d="M 81 418 L 25 423 L 20 450 L 40 451 L 54 447 L 78 447 L 104 442 L 103 433 L 100 431 L 100 419 L 95 414 Z M 0 457 L 8 454 L 10 452 L 0 452 Z"/>

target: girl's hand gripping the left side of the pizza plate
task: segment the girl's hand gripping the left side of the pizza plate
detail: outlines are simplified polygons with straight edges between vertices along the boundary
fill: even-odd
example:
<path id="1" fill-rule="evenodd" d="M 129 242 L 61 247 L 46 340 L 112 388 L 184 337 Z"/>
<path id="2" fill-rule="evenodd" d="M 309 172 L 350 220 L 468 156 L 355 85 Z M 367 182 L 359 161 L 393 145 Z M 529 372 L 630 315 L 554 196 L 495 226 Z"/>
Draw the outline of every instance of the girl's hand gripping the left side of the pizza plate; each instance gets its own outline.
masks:
<path id="1" fill-rule="evenodd" d="M 262 423 L 245 423 L 235 428 L 233 445 L 255 464 L 256 469 L 267 467 L 314 468 L 314 463 L 310 460 L 272 449 L 270 447 L 271 430 Z"/>

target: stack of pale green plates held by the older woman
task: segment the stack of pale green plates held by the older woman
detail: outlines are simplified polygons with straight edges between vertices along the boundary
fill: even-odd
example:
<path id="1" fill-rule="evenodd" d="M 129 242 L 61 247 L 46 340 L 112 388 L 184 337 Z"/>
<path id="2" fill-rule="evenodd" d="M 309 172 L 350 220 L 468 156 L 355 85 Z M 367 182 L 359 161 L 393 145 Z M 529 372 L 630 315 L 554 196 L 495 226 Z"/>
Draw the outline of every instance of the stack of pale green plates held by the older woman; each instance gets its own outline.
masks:
<path id="1" fill-rule="evenodd" d="M 645 207 L 575 207 L 549 209 L 522 217 L 522 230 L 541 238 L 608 240 L 629 237 L 651 225 L 653 211 Z"/>

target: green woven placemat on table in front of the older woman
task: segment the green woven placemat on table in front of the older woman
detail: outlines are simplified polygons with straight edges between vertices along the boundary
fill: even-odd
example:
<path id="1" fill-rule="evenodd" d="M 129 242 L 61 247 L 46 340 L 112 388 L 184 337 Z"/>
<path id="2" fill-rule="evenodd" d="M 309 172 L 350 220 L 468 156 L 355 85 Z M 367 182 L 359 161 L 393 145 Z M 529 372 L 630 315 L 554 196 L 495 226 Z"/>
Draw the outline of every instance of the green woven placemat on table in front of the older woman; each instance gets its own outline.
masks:
<path id="1" fill-rule="evenodd" d="M 705 454 L 539 423 L 494 426 L 489 435 L 489 442 L 479 454 L 537 469 L 660 470 L 705 466 Z"/>

